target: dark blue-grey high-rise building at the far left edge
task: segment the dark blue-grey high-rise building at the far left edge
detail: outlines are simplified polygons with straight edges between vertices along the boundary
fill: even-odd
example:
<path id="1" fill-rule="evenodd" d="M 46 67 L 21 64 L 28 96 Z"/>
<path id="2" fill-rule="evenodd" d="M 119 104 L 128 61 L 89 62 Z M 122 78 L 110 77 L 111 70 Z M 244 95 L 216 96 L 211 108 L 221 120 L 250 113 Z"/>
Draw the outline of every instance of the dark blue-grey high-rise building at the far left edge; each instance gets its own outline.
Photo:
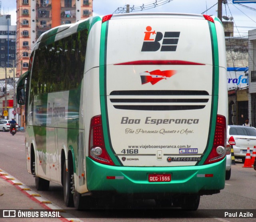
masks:
<path id="1" fill-rule="evenodd" d="M 10 15 L 0 14 L 0 67 L 13 67 L 16 60 L 16 26 Z"/>

